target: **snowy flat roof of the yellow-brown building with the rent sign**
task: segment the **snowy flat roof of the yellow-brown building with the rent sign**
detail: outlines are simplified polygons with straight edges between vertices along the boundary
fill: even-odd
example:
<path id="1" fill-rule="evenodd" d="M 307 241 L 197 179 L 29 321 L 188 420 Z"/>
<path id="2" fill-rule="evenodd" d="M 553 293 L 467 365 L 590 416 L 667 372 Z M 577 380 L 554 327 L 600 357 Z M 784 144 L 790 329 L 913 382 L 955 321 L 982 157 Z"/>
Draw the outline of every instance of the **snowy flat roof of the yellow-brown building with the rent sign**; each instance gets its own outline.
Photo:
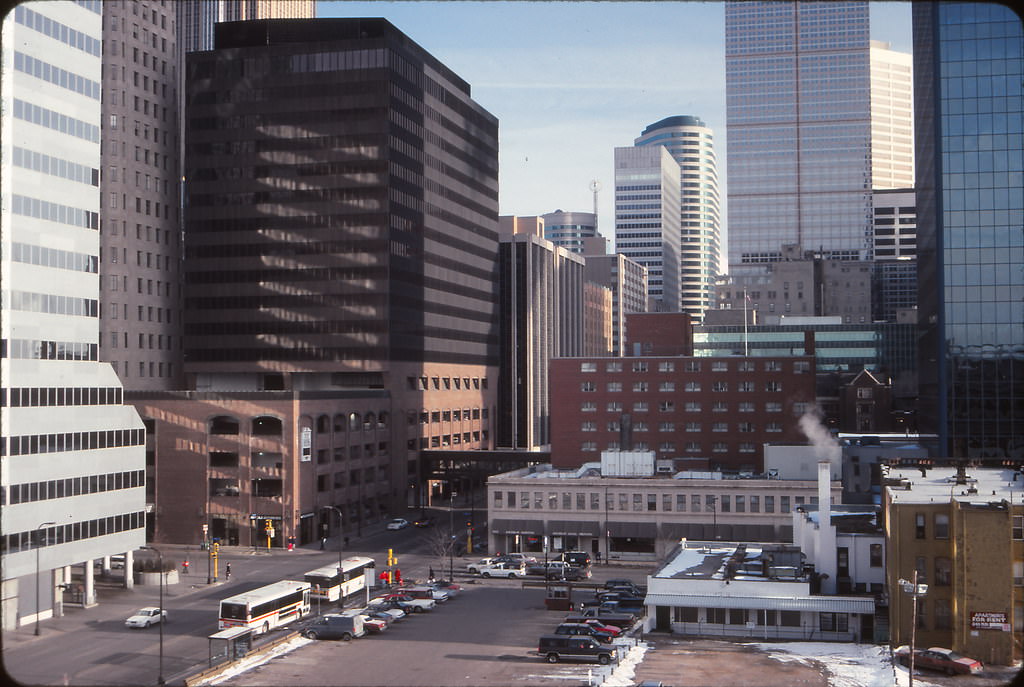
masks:
<path id="1" fill-rule="evenodd" d="M 1024 503 L 1024 475 L 1004 468 L 967 468 L 966 483 L 956 483 L 956 468 L 883 468 L 883 483 L 895 504 L 993 501 Z"/>

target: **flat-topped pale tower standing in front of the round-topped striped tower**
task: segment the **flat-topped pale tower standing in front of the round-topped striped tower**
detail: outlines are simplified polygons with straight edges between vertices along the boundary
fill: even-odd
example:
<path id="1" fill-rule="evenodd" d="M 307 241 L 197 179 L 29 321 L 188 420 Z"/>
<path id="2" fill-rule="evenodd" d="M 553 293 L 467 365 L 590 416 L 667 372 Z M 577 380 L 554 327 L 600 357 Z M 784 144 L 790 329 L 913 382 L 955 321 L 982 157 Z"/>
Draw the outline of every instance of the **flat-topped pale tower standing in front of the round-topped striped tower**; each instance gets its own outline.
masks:
<path id="1" fill-rule="evenodd" d="M 615 148 L 615 252 L 647 268 L 658 312 L 679 312 L 679 175 L 665 146 Z"/>

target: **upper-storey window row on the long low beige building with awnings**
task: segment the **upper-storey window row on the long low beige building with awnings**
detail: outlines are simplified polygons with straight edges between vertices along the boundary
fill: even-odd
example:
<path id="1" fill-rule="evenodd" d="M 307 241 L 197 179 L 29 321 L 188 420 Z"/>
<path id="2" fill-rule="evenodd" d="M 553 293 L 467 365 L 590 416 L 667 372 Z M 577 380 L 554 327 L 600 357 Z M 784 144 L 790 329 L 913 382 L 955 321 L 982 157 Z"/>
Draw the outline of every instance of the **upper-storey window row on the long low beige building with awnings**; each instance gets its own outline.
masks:
<path id="1" fill-rule="evenodd" d="M 664 513 L 790 513 L 805 504 L 804 497 L 780 495 L 717 493 L 626 493 L 601 491 L 493 491 L 495 508 L 519 508 L 548 511 L 634 511 Z M 518 497 L 518 498 L 517 498 Z M 818 498 L 811 497 L 811 504 Z M 532 504 L 532 506 L 531 506 Z M 617 507 L 616 507 L 617 504 Z M 777 504 L 777 510 L 776 510 Z"/>

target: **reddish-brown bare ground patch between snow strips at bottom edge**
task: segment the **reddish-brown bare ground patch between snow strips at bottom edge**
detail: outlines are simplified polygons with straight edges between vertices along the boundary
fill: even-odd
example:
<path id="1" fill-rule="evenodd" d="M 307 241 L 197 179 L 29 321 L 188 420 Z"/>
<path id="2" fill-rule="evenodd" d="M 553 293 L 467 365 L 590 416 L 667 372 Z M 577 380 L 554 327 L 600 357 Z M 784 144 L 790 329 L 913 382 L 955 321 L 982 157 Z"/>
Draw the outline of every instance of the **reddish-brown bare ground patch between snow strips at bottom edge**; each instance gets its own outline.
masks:
<path id="1" fill-rule="evenodd" d="M 635 683 L 667 687 L 828 687 L 820 667 L 782 662 L 739 643 L 648 634 L 652 647 L 636 668 Z"/>

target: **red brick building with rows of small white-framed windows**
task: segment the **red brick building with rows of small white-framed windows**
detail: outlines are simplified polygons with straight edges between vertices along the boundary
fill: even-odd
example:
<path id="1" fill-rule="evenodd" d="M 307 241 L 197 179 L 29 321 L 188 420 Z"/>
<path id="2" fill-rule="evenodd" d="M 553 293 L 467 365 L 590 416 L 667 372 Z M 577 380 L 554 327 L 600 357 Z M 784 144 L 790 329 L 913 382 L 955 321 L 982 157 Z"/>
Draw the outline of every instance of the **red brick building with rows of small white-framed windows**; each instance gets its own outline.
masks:
<path id="1" fill-rule="evenodd" d="M 553 466 L 578 467 L 607 449 L 649 449 L 659 459 L 761 472 L 766 442 L 804 442 L 798 421 L 815 402 L 813 351 L 693 357 L 683 313 L 631 315 L 627 329 L 630 351 L 660 354 L 551 361 Z"/>

